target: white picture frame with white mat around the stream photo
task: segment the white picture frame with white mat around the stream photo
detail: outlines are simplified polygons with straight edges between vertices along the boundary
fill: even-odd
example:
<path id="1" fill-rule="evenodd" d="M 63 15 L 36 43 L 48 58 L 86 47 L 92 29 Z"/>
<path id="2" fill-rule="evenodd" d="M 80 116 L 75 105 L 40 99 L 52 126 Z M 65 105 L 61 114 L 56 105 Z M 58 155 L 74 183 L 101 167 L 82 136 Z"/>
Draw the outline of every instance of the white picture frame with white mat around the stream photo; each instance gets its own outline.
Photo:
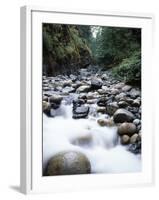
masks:
<path id="1" fill-rule="evenodd" d="M 21 192 L 43 193 L 152 185 L 154 143 L 152 102 L 153 15 L 89 10 L 21 8 Z M 65 23 L 142 28 L 142 172 L 42 177 L 42 29 Z M 38 59 L 40 57 L 40 59 Z M 153 66 L 152 66 L 153 67 Z M 35 75 L 36 74 L 36 75 Z M 149 80 L 149 83 L 147 83 Z M 150 134 L 151 133 L 151 134 Z"/>

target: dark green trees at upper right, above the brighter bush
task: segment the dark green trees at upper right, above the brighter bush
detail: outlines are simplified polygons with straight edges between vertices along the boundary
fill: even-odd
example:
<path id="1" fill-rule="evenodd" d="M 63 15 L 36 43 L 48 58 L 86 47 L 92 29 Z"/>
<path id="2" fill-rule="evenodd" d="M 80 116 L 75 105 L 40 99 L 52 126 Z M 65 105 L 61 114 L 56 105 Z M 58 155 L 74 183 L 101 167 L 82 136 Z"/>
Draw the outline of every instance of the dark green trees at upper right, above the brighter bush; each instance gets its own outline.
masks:
<path id="1" fill-rule="evenodd" d="M 96 37 L 98 63 L 119 63 L 140 48 L 140 29 L 102 27 Z"/>

